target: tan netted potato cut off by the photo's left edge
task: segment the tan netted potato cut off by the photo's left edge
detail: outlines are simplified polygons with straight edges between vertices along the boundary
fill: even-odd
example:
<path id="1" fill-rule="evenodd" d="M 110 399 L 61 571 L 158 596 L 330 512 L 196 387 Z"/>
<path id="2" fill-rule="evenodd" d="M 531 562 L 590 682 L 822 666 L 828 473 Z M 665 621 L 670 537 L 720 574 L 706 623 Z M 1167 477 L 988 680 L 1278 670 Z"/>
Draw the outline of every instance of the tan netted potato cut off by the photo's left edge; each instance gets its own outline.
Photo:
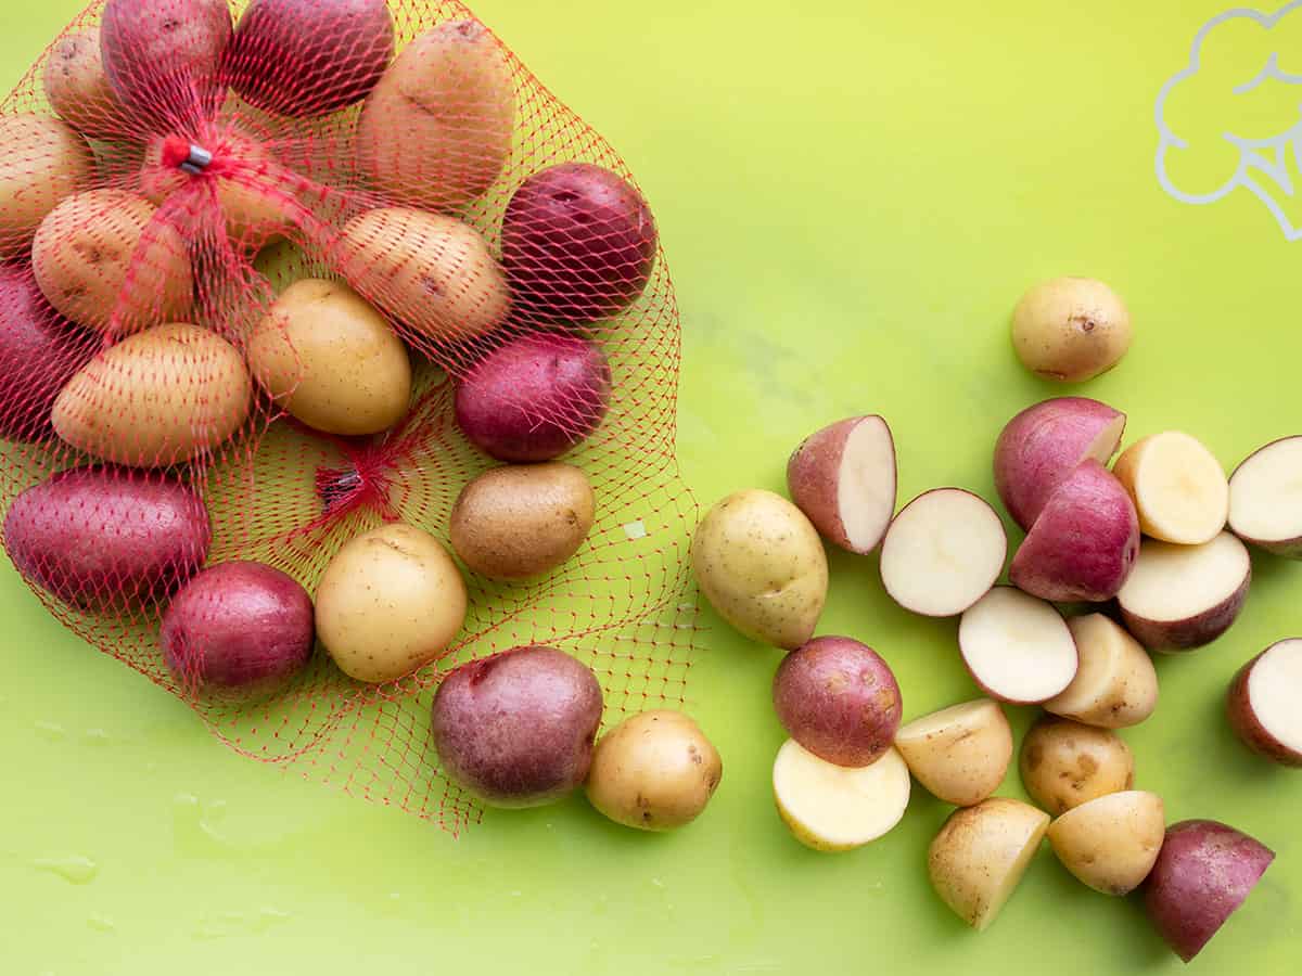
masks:
<path id="1" fill-rule="evenodd" d="M 49 211 L 90 182 L 94 165 L 86 141 L 57 118 L 0 116 L 0 262 L 27 251 Z"/>

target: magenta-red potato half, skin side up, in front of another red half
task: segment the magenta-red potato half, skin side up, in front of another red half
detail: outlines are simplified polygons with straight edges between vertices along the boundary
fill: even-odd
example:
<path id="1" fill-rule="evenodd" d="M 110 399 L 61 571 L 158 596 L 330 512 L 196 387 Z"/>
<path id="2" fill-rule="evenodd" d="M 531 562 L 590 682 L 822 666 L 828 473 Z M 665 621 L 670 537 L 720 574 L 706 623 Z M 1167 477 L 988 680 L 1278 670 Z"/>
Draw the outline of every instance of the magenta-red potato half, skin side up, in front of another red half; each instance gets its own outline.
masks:
<path id="1" fill-rule="evenodd" d="M 1062 481 L 1013 556 L 1009 580 L 1055 603 L 1101 603 L 1139 554 L 1139 519 L 1121 483 L 1094 458 Z"/>

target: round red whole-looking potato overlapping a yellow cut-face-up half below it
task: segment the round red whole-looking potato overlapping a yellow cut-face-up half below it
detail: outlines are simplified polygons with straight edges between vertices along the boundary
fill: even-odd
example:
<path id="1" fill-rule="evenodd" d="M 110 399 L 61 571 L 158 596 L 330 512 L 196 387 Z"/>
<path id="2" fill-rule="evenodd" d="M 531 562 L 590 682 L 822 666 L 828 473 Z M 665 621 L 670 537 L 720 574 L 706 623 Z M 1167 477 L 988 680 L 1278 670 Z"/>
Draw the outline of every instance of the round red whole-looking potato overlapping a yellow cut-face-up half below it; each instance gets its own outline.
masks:
<path id="1" fill-rule="evenodd" d="M 773 708 L 796 742 L 840 766 L 880 759 L 904 713 L 891 666 L 871 647 L 838 636 L 814 638 L 783 658 Z"/>

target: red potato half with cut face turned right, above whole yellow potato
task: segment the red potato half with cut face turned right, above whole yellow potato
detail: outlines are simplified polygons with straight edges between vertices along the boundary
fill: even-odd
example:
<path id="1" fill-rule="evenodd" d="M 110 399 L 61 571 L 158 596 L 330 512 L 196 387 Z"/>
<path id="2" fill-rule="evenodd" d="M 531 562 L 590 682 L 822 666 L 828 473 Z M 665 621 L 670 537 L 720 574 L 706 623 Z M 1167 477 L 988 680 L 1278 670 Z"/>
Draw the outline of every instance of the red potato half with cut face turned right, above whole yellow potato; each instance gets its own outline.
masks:
<path id="1" fill-rule="evenodd" d="M 810 435 L 786 462 L 792 501 L 829 543 L 872 552 L 896 504 L 896 455 L 880 416 L 852 416 Z"/>

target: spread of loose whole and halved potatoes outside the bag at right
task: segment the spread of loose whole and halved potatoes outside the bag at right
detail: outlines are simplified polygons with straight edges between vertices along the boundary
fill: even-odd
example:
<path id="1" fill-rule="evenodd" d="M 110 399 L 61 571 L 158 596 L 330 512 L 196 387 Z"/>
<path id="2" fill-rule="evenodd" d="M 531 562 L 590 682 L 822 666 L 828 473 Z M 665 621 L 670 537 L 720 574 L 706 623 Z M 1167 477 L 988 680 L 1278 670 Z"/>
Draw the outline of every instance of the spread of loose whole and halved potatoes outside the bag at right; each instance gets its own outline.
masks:
<path id="1" fill-rule="evenodd" d="M 1130 319 L 1103 282 L 1059 278 L 1017 306 L 1023 363 L 1061 380 L 1111 368 Z M 1083 397 L 1036 403 L 995 446 L 995 485 L 1026 536 L 999 584 L 1008 537 L 999 514 L 961 488 L 923 492 L 896 511 L 887 422 L 855 416 L 806 439 L 786 468 L 790 501 L 741 491 L 700 522 L 702 592 L 743 635 L 786 649 L 773 705 L 790 739 L 773 763 L 777 811 L 803 843 L 858 847 L 904 816 L 910 774 L 957 809 L 928 851 L 940 898 L 990 925 L 1048 837 L 1082 882 L 1122 895 L 1143 885 L 1147 914 L 1185 960 L 1243 902 L 1273 852 L 1208 820 L 1167 826 L 1160 796 L 1134 787 L 1117 729 L 1157 705 L 1148 652 L 1187 652 L 1237 618 L 1251 579 L 1245 541 L 1302 558 L 1302 436 L 1251 454 L 1230 478 L 1187 433 L 1126 448 L 1125 415 Z M 958 656 L 984 695 L 901 724 L 887 661 L 845 636 L 814 636 L 828 587 L 827 541 L 880 545 L 885 592 L 926 617 L 960 617 Z M 1094 604 L 1065 618 L 1055 604 Z M 1035 806 L 995 796 L 1013 756 L 1003 704 L 1040 705 L 1021 746 Z M 1302 766 L 1302 639 L 1249 661 L 1228 716 L 1267 759 Z"/>

